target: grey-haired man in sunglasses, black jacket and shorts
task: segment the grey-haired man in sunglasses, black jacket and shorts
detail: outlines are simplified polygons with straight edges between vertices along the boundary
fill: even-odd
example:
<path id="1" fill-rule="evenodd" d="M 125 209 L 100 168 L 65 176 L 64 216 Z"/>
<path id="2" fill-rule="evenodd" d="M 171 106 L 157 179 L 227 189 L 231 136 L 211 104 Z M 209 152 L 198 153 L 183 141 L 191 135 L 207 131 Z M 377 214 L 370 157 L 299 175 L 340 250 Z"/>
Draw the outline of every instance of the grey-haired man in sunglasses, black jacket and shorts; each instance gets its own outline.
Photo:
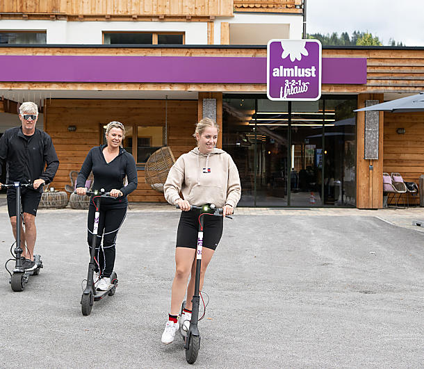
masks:
<path id="1" fill-rule="evenodd" d="M 33 261 L 35 238 L 35 215 L 40 204 L 42 187 L 53 181 L 59 161 L 50 136 L 35 129 L 38 120 L 38 106 L 24 102 L 19 107 L 22 126 L 8 129 L 0 138 L 0 175 L 1 165 L 6 163 L 6 183 L 33 183 L 33 188 L 21 188 L 22 212 L 25 231 L 21 227 L 21 248 L 24 268 L 35 267 Z M 47 164 L 47 167 L 46 167 Z M 0 183 L 1 189 L 1 183 Z M 8 188 L 8 213 L 16 238 L 16 189 Z"/>

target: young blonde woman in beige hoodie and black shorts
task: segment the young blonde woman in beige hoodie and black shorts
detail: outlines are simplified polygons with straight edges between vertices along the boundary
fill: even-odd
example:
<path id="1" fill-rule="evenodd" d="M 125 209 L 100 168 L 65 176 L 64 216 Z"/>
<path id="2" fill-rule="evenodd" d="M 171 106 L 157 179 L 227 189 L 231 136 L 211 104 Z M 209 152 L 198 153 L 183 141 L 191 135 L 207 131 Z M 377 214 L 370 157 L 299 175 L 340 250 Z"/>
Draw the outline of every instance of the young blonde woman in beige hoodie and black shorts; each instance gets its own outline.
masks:
<path id="1" fill-rule="evenodd" d="M 177 230 L 171 312 L 162 335 L 162 343 L 165 344 L 174 341 L 175 333 L 179 329 L 178 314 L 186 292 L 186 309 L 180 318 L 181 327 L 184 321 L 191 319 L 199 213 L 190 211 L 190 205 L 215 204 L 217 208 L 223 208 L 224 216 L 231 215 L 241 195 L 240 178 L 234 161 L 225 151 L 215 148 L 218 130 L 218 124 L 209 118 L 197 123 L 193 134 L 197 140 L 197 147 L 178 158 L 164 186 L 165 199 L 172 205 L 178 204 L 182 210 Z M 180 192 L 184 199 L 180 197 Z M 206 268 L 222 236 L 223 218 L 206 217 L 204 220 L 200 290 Z M 187 286 L 190 274 L 190 283 Z"/>

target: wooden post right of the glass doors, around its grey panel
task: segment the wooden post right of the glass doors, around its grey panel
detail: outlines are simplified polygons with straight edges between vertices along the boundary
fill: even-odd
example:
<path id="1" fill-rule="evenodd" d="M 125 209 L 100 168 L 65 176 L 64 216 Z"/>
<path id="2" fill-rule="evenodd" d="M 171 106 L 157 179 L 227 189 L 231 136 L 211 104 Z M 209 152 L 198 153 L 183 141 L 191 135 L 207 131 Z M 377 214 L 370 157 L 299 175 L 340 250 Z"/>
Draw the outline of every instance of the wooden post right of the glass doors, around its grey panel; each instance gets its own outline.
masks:
<path id="1" fill-rule="evenodd" d="M 382 94 L 361 94 L 358 108 L 364 108 L 366 100 L 383 102 Z M 383 126 L 384 114 L 380 112 L 378 135 L 378 160 L 364 158 L 365 112 L 357 113 L 357 208 L 383 207 Z"/>

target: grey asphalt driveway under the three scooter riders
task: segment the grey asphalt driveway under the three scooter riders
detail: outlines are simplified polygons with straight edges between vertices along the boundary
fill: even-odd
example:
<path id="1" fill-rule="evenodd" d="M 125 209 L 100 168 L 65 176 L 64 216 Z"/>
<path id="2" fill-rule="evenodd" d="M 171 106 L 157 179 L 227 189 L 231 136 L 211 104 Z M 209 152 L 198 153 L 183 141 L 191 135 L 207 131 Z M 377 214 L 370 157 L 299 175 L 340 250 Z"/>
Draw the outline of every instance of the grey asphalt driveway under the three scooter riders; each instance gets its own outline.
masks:
<path id="1" fill-rule="evenodd" d="M 199 368 L 424 366 L 423 233 L 355 215 L 238 215 L 206 274 Z M 40 211 L 44 270 L 14 293 L 0 270 L 0 366 L 183 368 L 161 344 L 177 211 L 129 211 L 120 285 L 81 315 L 85 213 Z M 0 213 L 0 260 L 12 242 Z"/>

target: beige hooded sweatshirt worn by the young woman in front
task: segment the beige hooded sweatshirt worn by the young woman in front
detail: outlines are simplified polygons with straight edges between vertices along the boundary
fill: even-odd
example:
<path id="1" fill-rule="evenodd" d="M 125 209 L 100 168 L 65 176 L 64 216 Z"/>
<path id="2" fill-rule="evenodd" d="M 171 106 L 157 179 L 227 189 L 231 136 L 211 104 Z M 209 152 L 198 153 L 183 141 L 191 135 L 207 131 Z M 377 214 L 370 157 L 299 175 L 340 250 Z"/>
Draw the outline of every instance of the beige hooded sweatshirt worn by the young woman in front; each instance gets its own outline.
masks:
<path id="1" fill-rule="evenodd" d="M 235 208 L 241 195 L 236 164 L 224 150 L 202 154 L 195 147 L 172 165 L 163 187 L 165 199 L 173 205 L 180 199 L 180 191 L 191 205 L 222 208 L 229 204 Z"/>

